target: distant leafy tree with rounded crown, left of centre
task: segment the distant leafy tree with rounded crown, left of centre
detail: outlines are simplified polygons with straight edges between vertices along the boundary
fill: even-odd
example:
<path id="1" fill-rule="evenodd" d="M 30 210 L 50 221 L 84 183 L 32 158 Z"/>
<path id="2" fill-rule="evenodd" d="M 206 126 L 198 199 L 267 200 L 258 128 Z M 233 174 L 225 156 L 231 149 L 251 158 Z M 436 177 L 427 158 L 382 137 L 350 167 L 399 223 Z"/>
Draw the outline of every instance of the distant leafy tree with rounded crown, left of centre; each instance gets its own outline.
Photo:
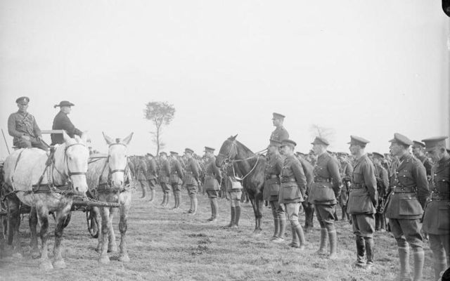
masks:
<path id="1" fill-rule="evenodd" d="M 175 115 L 175 107 L 166 102 L 152 101 L 146 104 L 146 108 L 143 110 L 144 118 L 153 122 L 155 125 L 155 131 L 150 131 L 153 135 L 152 141 L 156 145 L 156 155 L 159 155 L 160 149 L 165 147 L 165 143 L 162 143 L 162 126 L 170 124 Z"/>

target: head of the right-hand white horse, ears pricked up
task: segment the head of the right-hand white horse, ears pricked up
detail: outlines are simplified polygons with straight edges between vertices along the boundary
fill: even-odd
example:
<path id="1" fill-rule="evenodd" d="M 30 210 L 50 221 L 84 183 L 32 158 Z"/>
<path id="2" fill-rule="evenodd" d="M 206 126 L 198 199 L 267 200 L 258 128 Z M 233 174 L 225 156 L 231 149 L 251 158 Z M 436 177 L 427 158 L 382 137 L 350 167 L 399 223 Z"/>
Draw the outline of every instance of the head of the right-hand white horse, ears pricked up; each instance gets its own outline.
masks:
<path id="1" fill-rule="evenodd" d="M 128 144 L 133 137 L 130 133 L 127 138 L 121 140 L 116 138 L 115 141 L 103 133 L 106 143 L 109 145 L 108 163 L 110 166 L 111 184 L 113 188 L 120 188 L 124 185 L 124 178 L 128 164 Z"/>

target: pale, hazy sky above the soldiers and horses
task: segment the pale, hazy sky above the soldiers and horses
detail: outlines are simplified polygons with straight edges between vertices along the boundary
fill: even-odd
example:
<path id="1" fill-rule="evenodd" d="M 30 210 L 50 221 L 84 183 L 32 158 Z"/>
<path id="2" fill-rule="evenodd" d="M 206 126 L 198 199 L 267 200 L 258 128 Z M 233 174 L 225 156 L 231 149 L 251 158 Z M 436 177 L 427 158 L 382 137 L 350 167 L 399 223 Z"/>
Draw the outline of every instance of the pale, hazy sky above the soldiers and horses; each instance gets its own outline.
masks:
<path id="1" fill-rule="evenodd" d="M 174 105 L 165 151 L 198 154 L 226 138 L 266 148 L 272 112 L 297 150 L 311 125 L 387 152 L 395 132 L 449 136 L 450 21 L 439 1 L 0 1 L 0 128 L 15 99 L 51 129 L 60 100 L 94 149 L 134 132 L 155 152 L 145 104 Z M 44 136 L 49 142 L 49 136 Z M 447 142 L 448 143 L 448 142 Z M 3 138 L 0 159 L 8 155 Z"/>

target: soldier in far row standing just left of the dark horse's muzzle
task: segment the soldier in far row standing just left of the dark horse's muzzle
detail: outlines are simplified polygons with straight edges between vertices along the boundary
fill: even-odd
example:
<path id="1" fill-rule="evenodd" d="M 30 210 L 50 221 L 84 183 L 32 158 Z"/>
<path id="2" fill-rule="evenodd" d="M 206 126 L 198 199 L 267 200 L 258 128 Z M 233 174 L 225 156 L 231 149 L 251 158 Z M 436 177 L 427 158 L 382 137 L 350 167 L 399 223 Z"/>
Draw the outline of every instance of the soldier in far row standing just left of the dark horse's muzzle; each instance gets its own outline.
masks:
<path id="1" fill-rule="evenodd" d="M 217 205 L 217 196 L 219 195 L 221 183 L 221 173 L 218 166 L 216 166 L 216 157 L 214 156 L 214 148 L 205 146 L 205 157 L 208 159 L 205 173 L 205 190 L 211 203 L 211 217 L 208 221 L 217 221 L 219 216 L 219 206 Z"/>

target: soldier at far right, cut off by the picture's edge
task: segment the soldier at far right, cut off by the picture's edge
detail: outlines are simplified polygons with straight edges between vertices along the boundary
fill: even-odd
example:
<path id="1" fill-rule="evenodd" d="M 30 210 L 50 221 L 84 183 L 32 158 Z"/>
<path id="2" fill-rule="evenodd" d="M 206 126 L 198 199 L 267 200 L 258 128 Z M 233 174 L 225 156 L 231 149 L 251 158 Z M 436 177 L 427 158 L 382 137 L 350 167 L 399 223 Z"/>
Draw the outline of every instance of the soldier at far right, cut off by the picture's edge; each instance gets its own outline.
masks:
<path id="1" fill-rule="evenodd" d="M 432 193 L 423 216 L 423 231 L 430 237 L 436 280 L 439 273 L 450 266 L 450 155 L 445 149 L 446 138 L 422 140 L 435 162 L 430 181 Z"/>

